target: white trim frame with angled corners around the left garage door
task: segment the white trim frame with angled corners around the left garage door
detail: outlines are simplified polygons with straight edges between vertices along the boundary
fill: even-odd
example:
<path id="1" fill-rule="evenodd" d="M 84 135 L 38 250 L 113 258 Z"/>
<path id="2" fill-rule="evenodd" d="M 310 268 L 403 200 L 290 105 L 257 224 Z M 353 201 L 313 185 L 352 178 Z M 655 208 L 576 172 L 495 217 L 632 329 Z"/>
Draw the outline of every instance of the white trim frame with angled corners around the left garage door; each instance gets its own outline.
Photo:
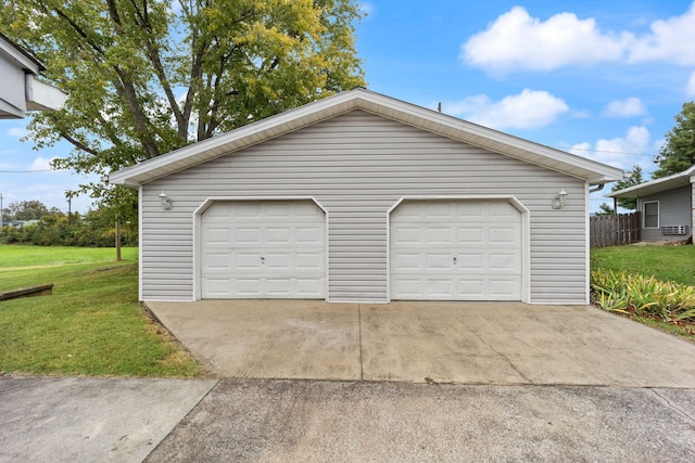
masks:
<path id="1" fill-rule="evenodd" d="M 202 262 L 201 262 L 201 254 L 200 254 L 200 248 L 202 247 L 202 242 L 201 242 L 201 236 L 202 236 L 202 216 L 203 213 L 205 210 L 207 210 L 207 208 L 210 206 L 212 206 L 214 203 L 216 202 L 257 202 L 257 201 L 312 201 L 314 204 L 316 204 L 316 206 L 318 206 L 319 209 L 321 209 L 324 211 L 324 216 L 326 217 L 326 236 L 325 236 L 325 256 L 326 256 L 326 261 L 325 263 L 325 269 L 326 269 L 326 287 L 325 287 L 325 297 L 324 300 L 326 300 L 327 303 L 330 303 L 329 300 L 329 294 L 330 294 L 330 272 L 329 272 L 329 268 L 328 268 L 328 239 L 329 239 L 329 232 L 328 232 L 328 226 L 329 226 L 329 220 L 328 220 L 328 209 L 326 209 L 324 207 L 323 204 L 320 204 L 318 202 L 318 200 L 316 200 L 314 196 L 210 196 L 207 198 L 205 198 L 205 201 L 203 201 L 201 203 L 200 206 L 198 206 L 195 208 L 195 210 L 193 210 L 193 301 L 198 301 L 198 300 L 202 300 L 202 290 L 201 290 L 201 278 L 202 278 Z"/>

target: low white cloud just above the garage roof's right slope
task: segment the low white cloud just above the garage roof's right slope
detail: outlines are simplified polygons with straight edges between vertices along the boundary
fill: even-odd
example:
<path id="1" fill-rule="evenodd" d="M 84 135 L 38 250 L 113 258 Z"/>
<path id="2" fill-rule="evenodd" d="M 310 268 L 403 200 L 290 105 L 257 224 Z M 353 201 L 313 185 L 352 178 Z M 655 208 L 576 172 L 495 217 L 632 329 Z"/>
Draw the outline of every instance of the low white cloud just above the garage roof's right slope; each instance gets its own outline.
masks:
<path id="1" fill-rule="evenodd" d="M 530 129 L 552 124 L 569 111 L 564 100 L 546 91 L 525 89 L 516 95 L 493 102 L 488 95 L 468 97 L 443 107 L 447 114 L 494 129 Z"/>

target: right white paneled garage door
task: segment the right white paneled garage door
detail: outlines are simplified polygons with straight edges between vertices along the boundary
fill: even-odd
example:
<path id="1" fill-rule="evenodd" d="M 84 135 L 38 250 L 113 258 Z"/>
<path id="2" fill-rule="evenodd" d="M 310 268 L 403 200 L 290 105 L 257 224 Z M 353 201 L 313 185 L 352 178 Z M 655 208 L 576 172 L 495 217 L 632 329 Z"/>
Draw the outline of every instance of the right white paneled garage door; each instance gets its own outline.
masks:
<path id="1" fill-rule="evenodd" d="M 505 201 L 406 201 L 391 215 L 391 298 L 520 300 L 521 233 Z"/>

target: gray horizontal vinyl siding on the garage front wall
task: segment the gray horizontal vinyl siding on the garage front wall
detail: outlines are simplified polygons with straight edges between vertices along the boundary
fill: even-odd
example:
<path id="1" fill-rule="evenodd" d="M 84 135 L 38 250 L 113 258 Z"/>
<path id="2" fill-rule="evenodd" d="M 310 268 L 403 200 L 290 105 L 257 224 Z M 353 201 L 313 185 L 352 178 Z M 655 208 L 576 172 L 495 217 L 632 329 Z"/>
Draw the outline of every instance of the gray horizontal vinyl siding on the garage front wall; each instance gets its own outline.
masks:
<path id="1" fill-rule="evenodd" d="M 192 298 L 193 211 L 208 197 L 314 197 L 329 215 L 329 300 L 387 301 L 388 210 L 401 197 L 514 195 L 530 209 L 531 301 L 583 304 L 584 192 L 583 180 L 353 111 L 144 184 L 142 297 Z"/>

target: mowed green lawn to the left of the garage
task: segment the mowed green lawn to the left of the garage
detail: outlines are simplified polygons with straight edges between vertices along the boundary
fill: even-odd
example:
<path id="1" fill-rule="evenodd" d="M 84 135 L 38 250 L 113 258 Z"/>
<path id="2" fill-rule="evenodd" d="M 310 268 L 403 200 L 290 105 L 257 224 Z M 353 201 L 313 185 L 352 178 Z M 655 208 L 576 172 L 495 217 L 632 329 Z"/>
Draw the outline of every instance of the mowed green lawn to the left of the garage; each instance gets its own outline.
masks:
<path id="1" fill-rule="evenodd" d="M 123 249 L 116 262 L 113 248 L 0 245 L 0 291 L 54 285 L 51 296 L 0 301 L 0 372 L 198 376 L 138 303 L 137 254 Z"/>

